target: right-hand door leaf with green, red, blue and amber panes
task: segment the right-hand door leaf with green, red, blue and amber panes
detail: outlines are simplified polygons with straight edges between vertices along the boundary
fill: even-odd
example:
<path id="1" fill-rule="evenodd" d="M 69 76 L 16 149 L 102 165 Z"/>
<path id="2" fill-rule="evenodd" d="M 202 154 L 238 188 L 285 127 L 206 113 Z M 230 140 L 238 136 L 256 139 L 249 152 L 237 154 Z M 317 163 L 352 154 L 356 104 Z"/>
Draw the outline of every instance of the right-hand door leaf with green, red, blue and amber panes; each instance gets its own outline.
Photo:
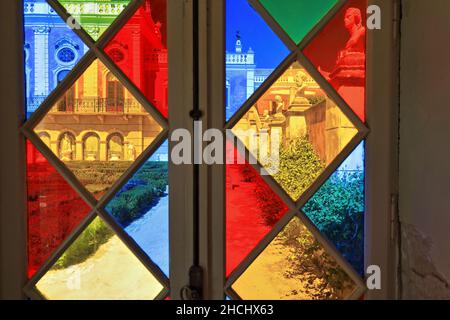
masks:
<path id="1" fill-rule="evenodd" d="M 397 4 L 200 3 L 200 103 L 227 137 L 201 174 L 208 292 L 393 297 Z"/>

